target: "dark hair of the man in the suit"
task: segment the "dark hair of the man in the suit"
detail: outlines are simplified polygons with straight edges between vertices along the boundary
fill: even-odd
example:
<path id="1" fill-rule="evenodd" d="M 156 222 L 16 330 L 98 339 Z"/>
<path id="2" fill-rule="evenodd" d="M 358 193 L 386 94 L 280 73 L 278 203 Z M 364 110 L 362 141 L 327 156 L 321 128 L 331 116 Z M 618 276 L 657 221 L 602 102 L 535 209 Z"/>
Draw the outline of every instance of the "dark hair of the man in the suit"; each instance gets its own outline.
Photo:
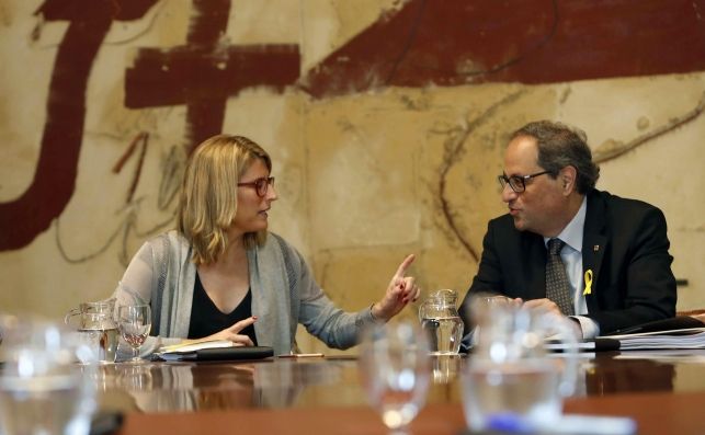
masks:
<path id="1" fill-rule="evenodd" d="M 573 167 L 578 172 L 578 192 L 584 195 L 594 188 L 600 178 L 600 167 L 592 161 L 584 131 L 560 123 L 536 121 L 512 133 L 510 140 L 521 136 L 536 139 L 537 163 L 550 176 L 555 179 L 561 169 Z"/>

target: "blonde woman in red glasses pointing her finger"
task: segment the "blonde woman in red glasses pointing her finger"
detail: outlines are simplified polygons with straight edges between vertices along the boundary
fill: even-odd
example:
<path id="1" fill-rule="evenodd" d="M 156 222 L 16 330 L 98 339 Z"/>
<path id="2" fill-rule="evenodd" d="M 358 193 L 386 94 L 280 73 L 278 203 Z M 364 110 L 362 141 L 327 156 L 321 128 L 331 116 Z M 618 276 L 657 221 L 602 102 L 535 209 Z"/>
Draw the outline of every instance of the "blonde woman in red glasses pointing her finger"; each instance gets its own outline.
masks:
<path id="1" fill-rule="evenodd" d="M 330 347 L 356 344 L 360 330 L 387 321 L 419 296 L 405 276 L 409 255 L 380 300 L 357 312 L 336 308 L 302 255 L 268 232 L 276 201 L 272 161 L 242 136 L 206 139 L 192 153 L 181 188 L 178 228 L 147 241 L 115 290 L 117 305 L 152 309 L 145 351 L 184 339 L 296 350 L 296 327 Z"/>

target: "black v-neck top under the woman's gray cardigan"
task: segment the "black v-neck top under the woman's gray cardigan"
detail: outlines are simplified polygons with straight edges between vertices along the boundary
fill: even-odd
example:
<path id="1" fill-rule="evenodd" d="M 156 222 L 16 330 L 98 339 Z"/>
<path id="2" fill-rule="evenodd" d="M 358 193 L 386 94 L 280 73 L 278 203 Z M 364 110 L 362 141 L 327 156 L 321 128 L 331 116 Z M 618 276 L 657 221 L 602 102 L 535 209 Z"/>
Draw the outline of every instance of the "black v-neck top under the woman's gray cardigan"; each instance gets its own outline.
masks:
<path id="1" fill-rule="evenodd" d="M 240 305 L 235 307 L 232 312 L 226 314 L 213 304 L 213 300 L 211 300 L 201 283 L 198 273 L 196 273 L 196 282 L 193 286 L 193 304 L 191 305 L 189 339 L 203 339 L 213 335 L 250 316 L 252 316 L 252 291 L 250 288 L 248 288 L 248 293 L 245 295 L 245 299 L 242 299 Z M 253 325 L 247 327 L 239 333 L 248 335 L 257 346 Z"/>

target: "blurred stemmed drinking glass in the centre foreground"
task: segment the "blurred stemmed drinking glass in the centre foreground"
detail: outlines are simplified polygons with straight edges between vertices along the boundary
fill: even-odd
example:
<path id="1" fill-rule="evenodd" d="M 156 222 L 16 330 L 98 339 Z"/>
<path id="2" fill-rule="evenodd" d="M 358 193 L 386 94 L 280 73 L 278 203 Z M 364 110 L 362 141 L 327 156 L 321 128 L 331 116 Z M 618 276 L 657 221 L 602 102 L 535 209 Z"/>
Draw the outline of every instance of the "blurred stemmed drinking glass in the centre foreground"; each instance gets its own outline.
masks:
<path id="1" fill-rule="evenodd" d="M 429 340 L 410 322 L 376 324 L 364 334 L 360 373 L 371 405 L 393 433 L 407 433 L 429 389 Z"/>

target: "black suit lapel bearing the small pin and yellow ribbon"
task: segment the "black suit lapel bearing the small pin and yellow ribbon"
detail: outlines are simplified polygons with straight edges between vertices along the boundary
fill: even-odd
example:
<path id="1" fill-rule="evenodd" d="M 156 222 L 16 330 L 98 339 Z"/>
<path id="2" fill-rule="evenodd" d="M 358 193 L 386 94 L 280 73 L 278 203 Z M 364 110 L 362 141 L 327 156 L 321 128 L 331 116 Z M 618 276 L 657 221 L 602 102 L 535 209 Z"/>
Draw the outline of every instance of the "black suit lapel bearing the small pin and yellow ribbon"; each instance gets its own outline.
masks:
<path id="1" fill-rule="evenodd" d="M 585 211 L 585 224 L 582 236 L 582 273 L 592 271 L 592 288 L 590 295 L 585 295 L 588 310 L 595 312 L 598 308 L 596 291 L 600 291 L 596 283 L 600 277 L 600 267 L 606 250 L 607 237 L 604 234 L 604 201 L 596 191 L 588 194 L 588 209 Z M 585 283 L 587 285 L 587 283 Z"/>

